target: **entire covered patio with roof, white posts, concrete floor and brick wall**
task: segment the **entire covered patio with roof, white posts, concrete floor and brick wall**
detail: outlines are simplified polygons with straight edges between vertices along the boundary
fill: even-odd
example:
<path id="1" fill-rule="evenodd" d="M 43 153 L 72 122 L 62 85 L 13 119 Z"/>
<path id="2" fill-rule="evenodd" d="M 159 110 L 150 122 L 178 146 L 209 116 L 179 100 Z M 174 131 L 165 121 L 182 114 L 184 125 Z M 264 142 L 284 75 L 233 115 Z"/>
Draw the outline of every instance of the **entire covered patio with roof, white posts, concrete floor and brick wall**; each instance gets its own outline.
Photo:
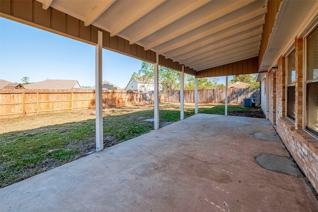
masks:
<path id="1" fill-rule="evenodd" d="M 1 211 L 318 211 L 302 173 L 287 165 L 292 159 L 276 122 L 204 114 L 182 120 L 184 73 L 196 78 L 197 113 L 198 78 L 266 72 L 266 118 L 278 119 L 281 138 L 317 190 L 317 138 L 303 122 L 310 55 L 303 57 L 303 41 L 317 27 L 318 2 L 129 2 L 1 0 L 1 17 L 95 45 L 97 151 L 102 49 L 154 64 L 157 130 L 2 188 Z M 293 122 L 285 117 L 285 58 L 294 48 Z M 181 121 L 161 129 L 159 66 L 180 71 L 181 90 Z"/>

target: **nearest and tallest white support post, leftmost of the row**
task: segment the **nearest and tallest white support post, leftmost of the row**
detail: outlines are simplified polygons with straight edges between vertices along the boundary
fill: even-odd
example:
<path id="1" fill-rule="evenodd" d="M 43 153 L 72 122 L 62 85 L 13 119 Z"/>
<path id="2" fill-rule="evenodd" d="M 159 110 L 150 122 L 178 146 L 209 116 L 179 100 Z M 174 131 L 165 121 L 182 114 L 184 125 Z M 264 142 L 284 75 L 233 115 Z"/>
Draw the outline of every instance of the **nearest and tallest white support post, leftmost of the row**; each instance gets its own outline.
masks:
<path id="1" fill-rule="evenodd" d="M 98 44 L 95 48 L 95 120 L 96 120 L 96 151 L 104 148 L 103 143 L 103 99 L 102 99 L 102 49 L 103 33 L 98 31 Z"/>

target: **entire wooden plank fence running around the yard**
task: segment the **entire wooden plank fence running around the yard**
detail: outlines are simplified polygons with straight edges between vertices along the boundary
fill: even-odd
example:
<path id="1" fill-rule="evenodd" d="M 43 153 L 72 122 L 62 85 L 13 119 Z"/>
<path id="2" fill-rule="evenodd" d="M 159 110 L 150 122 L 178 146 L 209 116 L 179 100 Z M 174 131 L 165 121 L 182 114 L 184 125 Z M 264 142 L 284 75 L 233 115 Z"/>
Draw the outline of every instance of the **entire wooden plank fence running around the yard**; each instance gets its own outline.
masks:
<path id="1" fill-rule="evenodd" d="M 161 93 L 160 93 L 161 94 Z M 228 89 L 229 103 L 243 103 L 243 98 L 259 102 L 259 88 Z M 103 107 L 142 105 L 154 102 L 154 92 L 103 90 Z M 163 99 L 164 98 L 164 99 Z M 180 91 L 169 90 L 160 101 L 180 102 Z M 194 102 L 194 90 L 184 91 L 185 102 Z M 199 103 L 224 103 L 225 89 L 199 90 Z M 95 107 L 95 90 L 0 89 L 0 118 L 32 116 L 54 111 L 71 111 Z"/>

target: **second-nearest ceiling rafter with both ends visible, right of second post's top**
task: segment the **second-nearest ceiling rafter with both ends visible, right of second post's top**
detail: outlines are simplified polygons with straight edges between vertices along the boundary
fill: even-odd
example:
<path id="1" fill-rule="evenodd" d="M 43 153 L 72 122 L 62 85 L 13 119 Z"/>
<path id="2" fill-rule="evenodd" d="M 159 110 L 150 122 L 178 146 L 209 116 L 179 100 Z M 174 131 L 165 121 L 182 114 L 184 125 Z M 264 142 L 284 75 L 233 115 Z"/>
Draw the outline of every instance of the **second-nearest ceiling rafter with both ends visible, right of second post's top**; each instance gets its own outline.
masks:
<path id="1" fill-rule="evenodd" d="M 186 48 L 182 48 L 182 49 L 177 50 L 175 52 L 171 52 L 170 54 L 164 54 L 164 56 L 168 57 L 168 58 L 172 58 L 172 57 L 174 57 L 176 55 L 183 54 L 183 53 L 186 53 L 186 52 L 190 52 L 190 51 L 195 50 L 195 49 L 197 49 L 199 47 L 203 47 L 203 46 L 209 45 L 211 43 L 214 43 L 216 41 L 223 40 L 223 39 L 226 39 L 226 38 L 231 37 L 233 35 L 239 34 L 239 33 L 244 32 L 246 30 L 250 30 L 251 28 L 262 26 L 263 23 L 264 23 L 263 19 L 256 20 L 256 21 L 254 21 L 252 23 L 243 25 L 243 26 L 241 26 L 239 28 L 233 29 L 233 30 L 228 31 L 226 33 L 223 33 L 223 34 L 220 34 L 218 36 L 212 37 L 210 39 L 204 40 L 204 41 L 202 41 L 200 43 L 192 44 L 191 46 L 188 46 Z"/>

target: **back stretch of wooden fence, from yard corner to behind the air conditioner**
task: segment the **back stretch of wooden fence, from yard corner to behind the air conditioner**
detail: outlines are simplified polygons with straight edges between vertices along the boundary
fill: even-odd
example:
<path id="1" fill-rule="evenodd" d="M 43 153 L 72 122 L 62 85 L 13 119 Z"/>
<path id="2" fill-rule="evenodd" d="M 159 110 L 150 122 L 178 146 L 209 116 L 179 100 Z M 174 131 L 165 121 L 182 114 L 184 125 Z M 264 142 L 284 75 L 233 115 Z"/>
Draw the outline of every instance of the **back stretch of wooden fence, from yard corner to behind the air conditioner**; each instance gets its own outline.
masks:
<path id="1" fill-rule="evenodd" d="M 194 102 L 194 90 L 184 90 L 183 98 L 185 102 Z M 242 104 L 244 98 L 255 98 L 260 102 L 259 88 L 229 88 L 228 102 Z M 167 102 L 180 102 L 180 91 L 169 90 L 165 93 Z M 225 89 L 198 90 L 199 103 L 224 103 Z"/>

